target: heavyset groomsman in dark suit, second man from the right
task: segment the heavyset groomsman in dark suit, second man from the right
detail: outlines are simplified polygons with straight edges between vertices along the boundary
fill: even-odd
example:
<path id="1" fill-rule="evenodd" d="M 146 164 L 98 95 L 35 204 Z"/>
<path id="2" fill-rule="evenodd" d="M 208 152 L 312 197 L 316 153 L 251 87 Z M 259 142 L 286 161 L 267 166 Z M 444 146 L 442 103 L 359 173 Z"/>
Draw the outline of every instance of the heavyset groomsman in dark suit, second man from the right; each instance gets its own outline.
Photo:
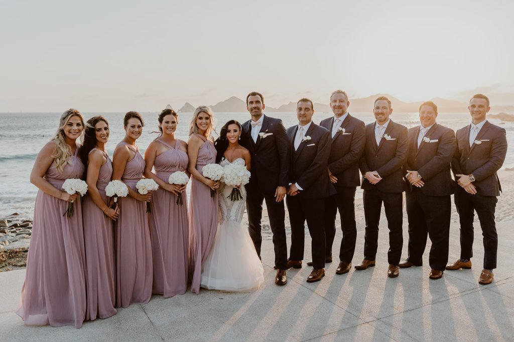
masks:
<path id="1" fill-rule="evenodd" d="M 409 154 L 403 172 L 409 220 L 409 257 L 401 268 L 423 265 L 423 253 L 430 237 L 430 279 L 443 277 L 448 263 L 451 194 L 453 179 L 450 162 L 455 153 L 455 133 L 438 125 L 437 106 L 424 102 L 419 106 L 420 126 L 409 129 Z"/>

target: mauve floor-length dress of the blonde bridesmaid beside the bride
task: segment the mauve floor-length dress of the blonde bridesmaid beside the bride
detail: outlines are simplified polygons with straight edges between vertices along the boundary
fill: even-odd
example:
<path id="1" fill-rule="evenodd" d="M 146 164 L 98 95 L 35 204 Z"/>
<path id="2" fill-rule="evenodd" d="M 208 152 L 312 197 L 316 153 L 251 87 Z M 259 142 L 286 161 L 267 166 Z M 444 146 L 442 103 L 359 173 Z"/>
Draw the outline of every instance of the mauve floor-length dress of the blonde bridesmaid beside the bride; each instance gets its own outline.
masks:
<path id="1" fill-rule="evenodd" d="M 198 149 L 196 170 L 207 164 L 216 163 L 216 149 L 211 141 L 206 141 Z M 212 248 L 218 227 L 218 197 L 211 197 L 211 188 L 191 177 L 191 203 L 189 208 L 189 246 L 191 269 L 191 292 L 200 291 L 200 276 L 203 263 Z"/>

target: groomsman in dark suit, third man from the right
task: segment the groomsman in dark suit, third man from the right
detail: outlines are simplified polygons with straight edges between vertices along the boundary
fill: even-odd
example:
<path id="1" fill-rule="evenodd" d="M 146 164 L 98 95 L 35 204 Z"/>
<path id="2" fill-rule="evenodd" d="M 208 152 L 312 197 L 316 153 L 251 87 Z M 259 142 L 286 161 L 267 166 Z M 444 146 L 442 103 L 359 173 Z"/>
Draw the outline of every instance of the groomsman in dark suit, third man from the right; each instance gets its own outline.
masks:
<path id="1" fill-rule="evenodd" d="M 365 270 L 375 266 L 378 247 L 378 223 L 382 202 L 386 210 L 389 227 L 389 277 L 399 274 L 402 236 L 402 166 L 407 160 L 407 127 L 389 118 L 393 108 L 391 101 L 380 96 L 375 100 L 373 114 L 376 122 L 366 125 L 366 144 L 360 158 L 360 171 L 363 175 L 364 219 L 364 260 L 355 266 Z"/>

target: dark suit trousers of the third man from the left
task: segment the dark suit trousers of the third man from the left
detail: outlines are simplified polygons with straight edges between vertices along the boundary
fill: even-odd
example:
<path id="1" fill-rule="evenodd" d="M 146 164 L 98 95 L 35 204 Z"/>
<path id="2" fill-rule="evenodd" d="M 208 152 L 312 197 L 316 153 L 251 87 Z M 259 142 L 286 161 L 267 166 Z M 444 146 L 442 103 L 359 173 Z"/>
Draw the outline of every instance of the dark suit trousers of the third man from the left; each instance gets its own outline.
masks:
<path id="1" fill-rule="evenodd" d="M 339 209 L 343 238 L 339 249 L 339 260 L 351 263 L 357 240 L 357 224 L 355 223 L 355 190 L 356 187 L 338 188 L 337 194 L 327 197 L 325 201 L 325 240 L 326 256 L 332 256 L 332 244 L 336 235 L 336 215 Z"/>

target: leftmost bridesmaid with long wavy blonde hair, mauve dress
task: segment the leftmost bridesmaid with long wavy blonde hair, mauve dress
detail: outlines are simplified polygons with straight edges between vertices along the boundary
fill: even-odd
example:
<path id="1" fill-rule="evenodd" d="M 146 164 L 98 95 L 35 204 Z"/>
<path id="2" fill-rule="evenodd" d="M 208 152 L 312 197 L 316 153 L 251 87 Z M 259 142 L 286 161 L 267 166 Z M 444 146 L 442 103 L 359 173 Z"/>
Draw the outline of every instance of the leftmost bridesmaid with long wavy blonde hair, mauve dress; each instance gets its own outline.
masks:
<path id="1" fill-rule="evenodd" d="M 82 327 L 86 312 L 85 256 L 79 194 L 62 191 L 67 178 L 80 178 L 84 166 L 77 156 L 77 138 L 84 119 L 76 109 L 65 111 L 56 135 L 39 152 L 30 183 L 39 188 L 35 199 L 27 271 L 21 307 L 26 325 Z M 63 216 L 68 202 L 75 214 Z"/>

